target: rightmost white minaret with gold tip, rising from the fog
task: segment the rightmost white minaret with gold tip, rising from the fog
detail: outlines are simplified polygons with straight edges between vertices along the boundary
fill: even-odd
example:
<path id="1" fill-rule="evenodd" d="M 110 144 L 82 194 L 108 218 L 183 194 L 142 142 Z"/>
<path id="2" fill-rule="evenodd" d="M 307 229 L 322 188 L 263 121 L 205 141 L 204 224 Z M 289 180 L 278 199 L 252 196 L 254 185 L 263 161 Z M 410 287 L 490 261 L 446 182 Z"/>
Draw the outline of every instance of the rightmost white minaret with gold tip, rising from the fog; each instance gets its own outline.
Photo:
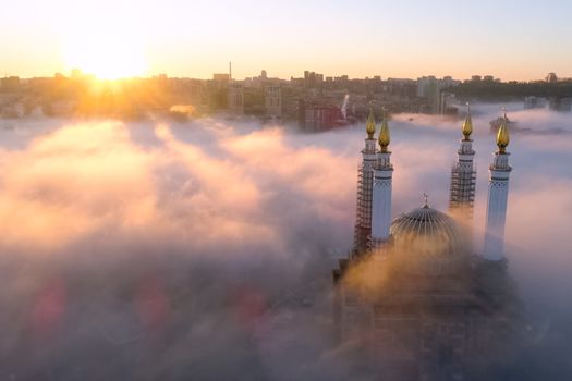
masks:
<path id="1" fill-rule="evenodd" d="M 509 196 L 509 128 L 507 113 L 497 134 L 499 150 L 495 153 L 490 165 L 490 181 L 488 186 L 487 226 L 485 230 L 484 258 L 487 260 L 502 260 L 504 258 L 504 221 L 507 219 L 507 198 Z"/>

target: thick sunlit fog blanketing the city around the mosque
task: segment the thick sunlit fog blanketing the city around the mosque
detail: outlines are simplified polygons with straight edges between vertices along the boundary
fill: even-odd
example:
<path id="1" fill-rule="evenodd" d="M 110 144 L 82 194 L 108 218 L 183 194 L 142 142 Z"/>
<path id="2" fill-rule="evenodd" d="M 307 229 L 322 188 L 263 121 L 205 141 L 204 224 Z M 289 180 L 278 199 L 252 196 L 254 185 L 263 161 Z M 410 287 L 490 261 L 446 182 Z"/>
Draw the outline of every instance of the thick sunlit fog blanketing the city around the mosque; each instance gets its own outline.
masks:
<path id="1" fill-rule="evenodd" d="M 504 105 L 520 132 L 507 217 L 527 336 L 508 379 L 570 373 L 572 116 Z M 475 244 L 488 121 L 473 105 Z M 445 209 L 461 119 L 390 121 L 393 217 Z M 208 118 L 0 121 L 5 379 L 372 379 L 331 339 L 362 123 L 319 134 Z"/>

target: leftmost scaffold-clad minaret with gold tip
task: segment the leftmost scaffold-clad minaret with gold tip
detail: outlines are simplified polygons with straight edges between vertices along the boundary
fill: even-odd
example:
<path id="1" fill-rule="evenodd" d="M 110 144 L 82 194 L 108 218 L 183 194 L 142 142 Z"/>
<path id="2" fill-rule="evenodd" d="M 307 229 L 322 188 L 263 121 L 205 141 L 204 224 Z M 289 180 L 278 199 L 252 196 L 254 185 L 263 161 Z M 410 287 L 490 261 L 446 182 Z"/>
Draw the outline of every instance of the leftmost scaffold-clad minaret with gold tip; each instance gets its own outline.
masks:
<path id="1" fill-rule="evenodd" d="M 369 116 L 365 125 L 367 138 L 362 150 L 362 164 L 357 170 L 357 205 L 355 219 L 354 251 L 361 254 L 367 249 L 367 238 L 372 234 L 372 186 L 374 184 L 374 164 L 376 157 L 376 121 L 374 110 L 369 109 Z"/>

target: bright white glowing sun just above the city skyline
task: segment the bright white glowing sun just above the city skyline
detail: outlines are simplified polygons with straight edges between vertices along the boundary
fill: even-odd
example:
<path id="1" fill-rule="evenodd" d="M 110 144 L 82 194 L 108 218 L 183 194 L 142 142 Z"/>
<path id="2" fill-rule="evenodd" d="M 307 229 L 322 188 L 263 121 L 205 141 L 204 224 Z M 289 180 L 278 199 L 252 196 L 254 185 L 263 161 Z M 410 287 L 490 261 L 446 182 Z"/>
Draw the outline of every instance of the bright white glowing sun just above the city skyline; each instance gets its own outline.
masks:
<path id="1" fill-rule="evenodd" d="M 142 76 L 147 69 L 143 45 L 124 32 L 98 28 L 73 34 L 64 49 L 68 69 L 80 69 L 100 79 Z"/>

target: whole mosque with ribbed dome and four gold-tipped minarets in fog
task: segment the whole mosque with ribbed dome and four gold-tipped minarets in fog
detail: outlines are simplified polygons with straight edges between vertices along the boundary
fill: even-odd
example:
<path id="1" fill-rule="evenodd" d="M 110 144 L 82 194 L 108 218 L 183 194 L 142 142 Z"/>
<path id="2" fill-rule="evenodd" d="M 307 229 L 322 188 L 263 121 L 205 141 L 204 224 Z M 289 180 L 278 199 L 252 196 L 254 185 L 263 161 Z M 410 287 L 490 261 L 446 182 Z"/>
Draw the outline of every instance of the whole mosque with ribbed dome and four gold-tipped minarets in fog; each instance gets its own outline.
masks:
<path id="1" fill-rule="evenodd" d="M 334 320 L 362 368 L 387 380 L 494 379 L 510 356 L 520 316 L 506 273 L 509 175 L 507 115 L 489 168 L 483 253 L 471 239 L 476 167 L 467 110 L 451 170 L 448 212 L 425 202 L 391 220 L 390 130 L 376 149 L 370 111 L 358 170 L 354 247 L 333 270 Z"/>

